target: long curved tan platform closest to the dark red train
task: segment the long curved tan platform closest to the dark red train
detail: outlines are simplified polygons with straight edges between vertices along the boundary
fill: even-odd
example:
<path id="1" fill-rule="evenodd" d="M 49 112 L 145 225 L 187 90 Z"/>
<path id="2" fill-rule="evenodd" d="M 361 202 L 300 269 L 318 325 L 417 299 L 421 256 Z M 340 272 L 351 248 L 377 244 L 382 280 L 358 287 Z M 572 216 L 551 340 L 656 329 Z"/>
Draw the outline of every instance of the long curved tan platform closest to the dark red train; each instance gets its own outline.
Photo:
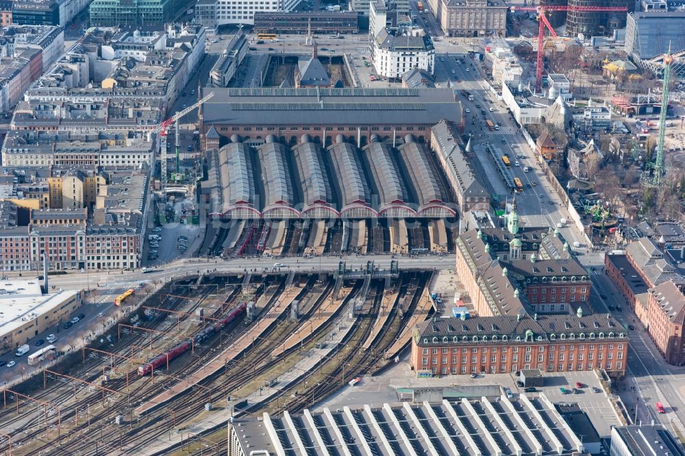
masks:
<path id="1" fill-rule="evenodd" d="M 249 331 L 247 331 L 247 333 L 241 335 L 238 340 L 225 349 L 221 355 L 215 357 L 210 363 L 205 364 L 191 375 L 188 375 L 186 380 L 176 383 L 168 390 L 165 390 L 164 392 L 151 398 L 149 401 L 136 407 L 136 414 L 144 415 L 148 411 L 151 411 L 156 407 L 171 401 L 171 399 L 175 398 L 175 396 L 187 392 L 190 390 L 190 388 L 193 388 L 198 383 L 201 383 L 207 377 L 211 377 L 212 375 L 216 374 L 216 372 L 226 366 L 227 362 L 236 359 L 236 357 L 240 356 L 241 353 L 246 351 L 250 345 L 254 344 L 256 340 L 259 340 L 262 336 L 262 333 L 269 329 L 269 327 L 271 327 L 271 325 L 273 325 L 276 320 L 282 316 L 282 314 L 286 311 L 290 304 L 292 304 L 292 301 L 295 301 L 295 298 L 297 298 L 302 290 L 303 288 L 301 287 L 286 288 L 286 290 L 278 297 L 277 301 L 274 303 L 273 307 L 271 307 L 269 312 L 262 316 L 256 325 L 253 325 Z"/>

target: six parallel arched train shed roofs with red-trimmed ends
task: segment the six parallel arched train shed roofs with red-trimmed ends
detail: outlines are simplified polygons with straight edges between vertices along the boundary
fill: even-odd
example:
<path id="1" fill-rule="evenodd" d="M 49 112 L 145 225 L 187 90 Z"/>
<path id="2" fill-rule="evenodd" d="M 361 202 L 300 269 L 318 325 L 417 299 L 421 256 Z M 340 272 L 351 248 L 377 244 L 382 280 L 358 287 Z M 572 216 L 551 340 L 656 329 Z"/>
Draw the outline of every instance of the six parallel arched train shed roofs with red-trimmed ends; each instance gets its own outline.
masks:
<path id="1" fill-rule="evenodd" d="M 327 148 L 303 134 L 286 147 L 273 134 L 257 147 L 234 134 L 216 147 L 207 135 L 213 218 L 451 218 L 449 183 L 426 144 L 406 135 L 397 147 L 378 134 L 361 149 L 338 134 Z M 268 184 L 268 185 L 267 185 Z"/>

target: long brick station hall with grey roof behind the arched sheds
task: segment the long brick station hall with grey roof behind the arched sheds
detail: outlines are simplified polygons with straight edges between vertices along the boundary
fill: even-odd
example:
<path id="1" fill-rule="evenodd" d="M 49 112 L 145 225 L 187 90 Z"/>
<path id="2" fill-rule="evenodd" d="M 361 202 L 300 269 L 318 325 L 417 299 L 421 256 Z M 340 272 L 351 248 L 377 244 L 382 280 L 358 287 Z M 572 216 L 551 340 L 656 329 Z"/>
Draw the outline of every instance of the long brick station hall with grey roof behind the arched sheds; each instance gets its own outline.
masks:
<path id="1" fill-rule="evenodd" d="M 219 147 L 233 135 L 259 145 L 271 134 L 290 147 L 303 135 L 329 147 L 341 135 L 361 149 L 373 134 L 395 145 L 407 134 L 429 142 L 430 128 L 443 119 L 464 129 L 451 88 L 206 88 L 203 96 L 210 91 L 200 130 L 203 142 L 216 130 Z"/>

